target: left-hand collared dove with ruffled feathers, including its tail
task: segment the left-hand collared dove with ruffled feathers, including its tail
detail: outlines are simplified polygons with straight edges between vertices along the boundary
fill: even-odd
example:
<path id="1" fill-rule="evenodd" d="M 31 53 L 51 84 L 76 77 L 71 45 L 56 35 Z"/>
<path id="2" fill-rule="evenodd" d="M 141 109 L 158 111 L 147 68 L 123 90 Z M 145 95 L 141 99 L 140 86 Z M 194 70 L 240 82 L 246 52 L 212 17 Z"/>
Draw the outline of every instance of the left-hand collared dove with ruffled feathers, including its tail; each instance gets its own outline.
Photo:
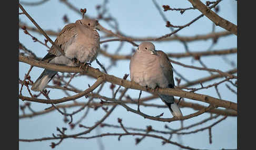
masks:
<path id="1" fill-rule="evenodd" d="M 77 66 L 74 60 L 91 63 L 100 50 L 100 36 L 96 31 L 100 30 L 98 25 L 95 19 L 80 19 L 66 25 L 54 41 L 65 55 L 52 46 L 42 61 L 71 67 Z M 42 91 L 56 73 L 45 69 L 31 89 Z"/>

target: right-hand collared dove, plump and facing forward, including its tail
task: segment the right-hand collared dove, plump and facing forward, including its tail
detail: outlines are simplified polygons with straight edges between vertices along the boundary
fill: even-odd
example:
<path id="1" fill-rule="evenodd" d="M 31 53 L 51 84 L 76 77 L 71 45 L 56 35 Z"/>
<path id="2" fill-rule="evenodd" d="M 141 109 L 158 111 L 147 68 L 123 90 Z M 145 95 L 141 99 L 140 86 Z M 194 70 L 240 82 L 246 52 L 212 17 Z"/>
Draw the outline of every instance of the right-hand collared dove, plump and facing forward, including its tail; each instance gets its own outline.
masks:
<path id="1" fill-rule="evenodd" d="M 172 65 L 168 56 L 161 50 L 155 50 L 152 42 L 142 42 L 130 61 L 130 78 L 143 87 L 155 89 L 174 88 Z M 159 94 L 172 115 L 182 117 L 179 106 L 172 95 Z"/>

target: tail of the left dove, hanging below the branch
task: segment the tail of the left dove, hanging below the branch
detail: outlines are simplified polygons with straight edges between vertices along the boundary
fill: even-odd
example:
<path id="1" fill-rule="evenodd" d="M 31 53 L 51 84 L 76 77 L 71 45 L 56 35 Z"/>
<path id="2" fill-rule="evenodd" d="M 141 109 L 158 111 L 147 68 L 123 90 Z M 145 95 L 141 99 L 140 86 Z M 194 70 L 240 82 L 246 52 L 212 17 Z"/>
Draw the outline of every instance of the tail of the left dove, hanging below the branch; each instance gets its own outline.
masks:
<path id="1" fill-rule="evenodd" d="M 43 91 L 47 83 L 52 80 L 52 78 L 55 76 L 56 73 L 57 71 L 44 69 L 40 77 L 38 77 L 35 83 L 32 85 L 31 90 Z"/>

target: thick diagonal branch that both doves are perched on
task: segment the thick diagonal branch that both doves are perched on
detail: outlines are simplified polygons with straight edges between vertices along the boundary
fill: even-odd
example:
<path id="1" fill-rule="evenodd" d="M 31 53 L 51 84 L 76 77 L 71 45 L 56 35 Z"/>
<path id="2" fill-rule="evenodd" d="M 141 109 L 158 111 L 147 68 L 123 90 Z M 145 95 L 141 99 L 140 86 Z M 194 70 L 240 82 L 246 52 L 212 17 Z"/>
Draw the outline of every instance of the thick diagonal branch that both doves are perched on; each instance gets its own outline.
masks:
<path id="1" fill-rule="evenodd" d="M 87 71 L 84 71 L 83 69 L 81 69 L 79 67 L 67 67 L 67 66 L 53 65 L 50 63 L 45 63 L 45 62 L 29 59 L 22 55 L 19 55 L 19 61 L 28 63 L 29 65 L 33 65 L 36 67 L 46 68 L 48 70 L 55 70 L 58 72 L 83 72 L 87 76 L 91 76 L 96 79 L 103 76 L 105 81 L 111 82 L 113 84 L 121 85 L 122 87 L 125 87 L 125 88 L 147 91 L 147 92 L 151 92 L 153 94 L 161 93 L 161 94 L 167 94 L 167 95 L 174 95 L 176 97 L 182 97 L 182 98 L 188 98 L 188 99 L 192 99 L 192 100 L 196 100 L 196 101 L 206 102 L 211 105 L 214 105 L 215 107 L 220 106 L 223 108 L 228 108 L 228 109 L 237 111 L 237 103 L 234 103 L 234 102 L 213 98 L 213 97 L 210 97 L 209 95 L 186 92 L 186 91 L 182 91 L 179 89 L 170 89 L 170 88 L 166 88 L 166 89 L 159 88 L 158 90 L 146 89 L 145 87 L 142 87 L 141 85 L 139 85 L 133 81 L 131 82 L 128 80 L 117 78 L 117 77 L 109 75 L 109 74 L 105 74 L 105 73 L 103 73 L 97 69 L 94 69 L 90 66 L 87 67 Z"/>

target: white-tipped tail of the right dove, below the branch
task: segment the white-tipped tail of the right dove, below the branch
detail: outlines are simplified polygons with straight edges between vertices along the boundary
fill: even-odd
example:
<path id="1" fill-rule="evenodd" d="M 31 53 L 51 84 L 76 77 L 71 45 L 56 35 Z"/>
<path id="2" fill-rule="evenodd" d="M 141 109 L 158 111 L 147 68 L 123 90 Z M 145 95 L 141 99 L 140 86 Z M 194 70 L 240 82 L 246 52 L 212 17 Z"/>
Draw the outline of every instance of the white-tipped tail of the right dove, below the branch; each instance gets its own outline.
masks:
<path id="1" fill-rule="evenodd" d="M 174 97 L 172 95 L 159 94 L 159 97 L 168 106 L 173 116 L 182 117 L 181 110 L 179 106 L 175 103 Z"/>

